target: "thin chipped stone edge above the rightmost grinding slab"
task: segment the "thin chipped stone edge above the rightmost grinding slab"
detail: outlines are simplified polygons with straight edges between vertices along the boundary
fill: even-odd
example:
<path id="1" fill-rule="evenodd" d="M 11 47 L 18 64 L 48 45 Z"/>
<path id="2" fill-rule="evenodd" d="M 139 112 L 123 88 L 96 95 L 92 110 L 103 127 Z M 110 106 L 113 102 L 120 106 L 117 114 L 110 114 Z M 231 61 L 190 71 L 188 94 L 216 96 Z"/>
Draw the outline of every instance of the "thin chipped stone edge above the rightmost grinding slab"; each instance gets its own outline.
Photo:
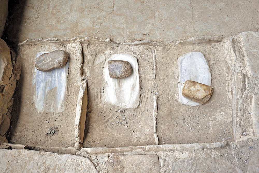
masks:
<path id="1" fill-rule="evenodd" d="M 224 37 L 218 36 L 195 36 L 186 40 L 178 40 L 176 45 L 201 44 L 209 42 L 220 42 Z"/>

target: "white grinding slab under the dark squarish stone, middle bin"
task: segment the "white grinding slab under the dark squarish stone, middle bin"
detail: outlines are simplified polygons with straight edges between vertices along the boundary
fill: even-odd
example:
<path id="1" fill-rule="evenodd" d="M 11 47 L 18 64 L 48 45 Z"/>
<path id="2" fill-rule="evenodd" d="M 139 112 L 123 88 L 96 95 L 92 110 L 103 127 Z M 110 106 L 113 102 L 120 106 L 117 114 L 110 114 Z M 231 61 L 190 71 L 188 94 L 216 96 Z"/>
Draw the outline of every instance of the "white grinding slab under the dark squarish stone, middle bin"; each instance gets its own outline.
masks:
<path id="1" fill-rule="evenodd" d="M 108 61 L 124 60 L 131 64 L 130 76 L 115 79 L 111 78 L 108 70 Z M 140 101 L 139 65 L 136 57 L 130 54 L 114 54 L 104 65 L 105 100 L 123 108 L 136 108 Z"/>

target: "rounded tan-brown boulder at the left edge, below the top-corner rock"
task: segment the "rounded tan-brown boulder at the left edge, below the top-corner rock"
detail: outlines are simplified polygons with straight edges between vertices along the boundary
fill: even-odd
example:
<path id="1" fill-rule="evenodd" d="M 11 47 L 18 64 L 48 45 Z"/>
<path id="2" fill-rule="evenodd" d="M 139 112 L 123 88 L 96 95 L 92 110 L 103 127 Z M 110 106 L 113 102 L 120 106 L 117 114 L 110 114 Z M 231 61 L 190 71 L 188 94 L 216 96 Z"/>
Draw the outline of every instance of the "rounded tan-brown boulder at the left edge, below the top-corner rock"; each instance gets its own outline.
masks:
<path id="1" fill-rule="evenodd" d="M 10 49 L 5 41 L 0 39 L 0 85 L 9 83 L 12 74 L 12 60 Z"/>

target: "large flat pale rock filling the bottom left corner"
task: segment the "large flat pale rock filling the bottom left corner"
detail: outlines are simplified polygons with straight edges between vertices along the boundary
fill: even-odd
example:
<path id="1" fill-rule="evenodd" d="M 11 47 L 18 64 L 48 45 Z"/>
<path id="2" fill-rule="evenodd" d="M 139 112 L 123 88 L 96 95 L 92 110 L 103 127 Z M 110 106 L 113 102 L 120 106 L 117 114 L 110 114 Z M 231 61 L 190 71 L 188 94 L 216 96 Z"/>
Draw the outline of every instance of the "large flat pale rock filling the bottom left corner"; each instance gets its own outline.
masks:
<path id="1" fill-rule="evenodd" d="M 3 172 L 97 172 L 88 158 L 69 154 L 1 149 L 0 160 Z"/>

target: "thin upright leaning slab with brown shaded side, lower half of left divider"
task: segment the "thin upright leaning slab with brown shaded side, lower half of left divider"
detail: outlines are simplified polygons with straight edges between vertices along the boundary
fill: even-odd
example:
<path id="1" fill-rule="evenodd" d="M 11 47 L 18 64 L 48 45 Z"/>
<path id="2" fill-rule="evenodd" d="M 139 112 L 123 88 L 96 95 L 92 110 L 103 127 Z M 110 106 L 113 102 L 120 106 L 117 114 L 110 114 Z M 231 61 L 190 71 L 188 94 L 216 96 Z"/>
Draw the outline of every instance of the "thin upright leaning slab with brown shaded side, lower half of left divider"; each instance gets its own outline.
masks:
<path id="1" fill-rule="evenodd" d="M 85 119 L 87 114 L 87 79 L 82 77 L 80 91 L 78 93 L 78 99 L 76 103 L 76 117 L 75 117 L 75 148 L 83 147 Z M 84 103 L 84 105 L 83 105 Z"/>

